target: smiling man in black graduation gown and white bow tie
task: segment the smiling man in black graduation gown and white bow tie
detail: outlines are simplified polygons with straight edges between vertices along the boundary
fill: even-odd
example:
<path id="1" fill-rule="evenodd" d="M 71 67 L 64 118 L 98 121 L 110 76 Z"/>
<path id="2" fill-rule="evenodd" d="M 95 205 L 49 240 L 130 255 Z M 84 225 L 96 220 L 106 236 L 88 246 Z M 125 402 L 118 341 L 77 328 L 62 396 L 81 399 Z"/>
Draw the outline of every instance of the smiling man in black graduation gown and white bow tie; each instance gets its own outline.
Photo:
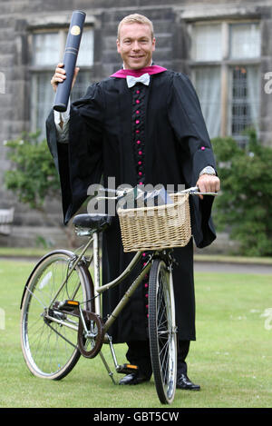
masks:
<path id="1" fill-rule="evenodd" d="M 64 223 L 86 199 L 89 185 L 103 179 L 106 187 L 111 176 L 116 187 L 121 183 L 161 183 L 165 187 L 184 183 L 197 184 L 201 192 L 219 191 L 198 97 L 186 75 L 152 64 L 155 44 L 148 18 L 126 16 L 117 38 L 123 68 L 92 84 L 68 114 L 50 114 L 48 143 L 60 173 Z M 78 71 L 76 68 L 74 80 Z M 131 77 L 141 77 L 141 82 L 135 83 Z M 59 64 L 51 81 L 54 90 L 64 78 L 63 64 Z M 191 199 L 192 231 L 199 247 L 216 238 L 210 218 L 212 201 L 210 196 Z M 179 341 L 177 387 L 199 390 L 199 385 L 189 381 L 185 361 L 189 342 L 195 340 L 192 241 L 174 253 L 179 263 L 173 272 Z M 131 253 L 123 253 L 120 227 L 114 217 L 103 233 L 103 282 L 117 277 L 131 257 Z M 128 282 L 123 282 L 109 297 L 103 297 L 103 315 L 112 311 L 127 286 Z M 121 384 L 138 384 L 151 378 L 147 287 L 148 277 L 110 332 L 113 342 L 128 344 L 127 358 L 139 366 L 139 372 L 124 376 Z"/>

